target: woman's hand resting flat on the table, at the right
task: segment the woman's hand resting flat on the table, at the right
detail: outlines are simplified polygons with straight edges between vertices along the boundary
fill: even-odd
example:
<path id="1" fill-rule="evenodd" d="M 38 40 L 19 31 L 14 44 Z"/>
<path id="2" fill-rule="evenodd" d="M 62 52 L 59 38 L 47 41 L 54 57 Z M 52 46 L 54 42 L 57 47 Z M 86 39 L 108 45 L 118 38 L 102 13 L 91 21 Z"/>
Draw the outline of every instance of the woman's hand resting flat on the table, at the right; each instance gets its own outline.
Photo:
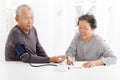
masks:
<path id="1" fill-rule="evenodd" d="M 90 67 L 95 67 L 100 65 L 104 65 L 102 60 L 87 61 L 86 63 L 83 63 L 84 68 L 90 68 Z"/>

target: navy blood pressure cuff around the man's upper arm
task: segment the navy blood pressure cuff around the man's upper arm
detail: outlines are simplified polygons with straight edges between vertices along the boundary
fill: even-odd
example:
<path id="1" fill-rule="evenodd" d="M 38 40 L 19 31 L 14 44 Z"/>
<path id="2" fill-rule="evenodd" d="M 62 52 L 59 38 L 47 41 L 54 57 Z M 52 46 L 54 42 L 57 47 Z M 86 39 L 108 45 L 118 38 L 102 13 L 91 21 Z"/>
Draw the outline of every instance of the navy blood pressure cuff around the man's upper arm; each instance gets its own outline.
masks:
<path id="1" fill-rule="evenodd" d="M 17 43 L 15 45 L 15 50 L 20 58 L 27 53 L 27 48 L 24 42 Z"/>

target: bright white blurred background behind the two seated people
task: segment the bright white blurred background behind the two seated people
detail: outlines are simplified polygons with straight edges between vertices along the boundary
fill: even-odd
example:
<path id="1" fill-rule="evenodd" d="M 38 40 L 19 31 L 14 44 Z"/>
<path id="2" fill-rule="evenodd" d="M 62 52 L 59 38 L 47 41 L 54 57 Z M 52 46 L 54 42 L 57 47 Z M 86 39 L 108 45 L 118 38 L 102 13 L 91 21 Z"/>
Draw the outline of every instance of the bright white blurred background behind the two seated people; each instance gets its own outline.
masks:
<path id="1" fill-rule="evenodd" d="M 108 42 L 120 61 L 119 0 L 0 0 L 0 60 L 4 61 L 6 39 L 21 4 L 33 8 L 34 27 L 49 56 L 65 54 L 77 32 L 78 17 L 92 13 L 97 19 L 95 33 Z"/>

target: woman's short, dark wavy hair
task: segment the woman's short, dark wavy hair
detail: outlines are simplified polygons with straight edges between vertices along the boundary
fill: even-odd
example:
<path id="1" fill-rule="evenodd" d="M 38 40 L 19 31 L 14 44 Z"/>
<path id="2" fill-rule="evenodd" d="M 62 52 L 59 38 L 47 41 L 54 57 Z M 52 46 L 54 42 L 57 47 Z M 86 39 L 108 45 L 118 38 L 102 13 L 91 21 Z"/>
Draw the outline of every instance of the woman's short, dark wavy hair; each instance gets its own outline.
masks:
<path id="1" fill-rule="evenodd" d="M 95 19 L 95 16 L 94 15 L 91 15 L 91 14 L 85 14 L 85 15 L 82 15 L 78 18 L 78 23 L 77 25 L 79 25 L 79 22 L 82 21 L 82 20 L 86 20 L 92 29 L 95 29 L 97 28 L 97 22 L 96 22 L 96 19 Z"/>

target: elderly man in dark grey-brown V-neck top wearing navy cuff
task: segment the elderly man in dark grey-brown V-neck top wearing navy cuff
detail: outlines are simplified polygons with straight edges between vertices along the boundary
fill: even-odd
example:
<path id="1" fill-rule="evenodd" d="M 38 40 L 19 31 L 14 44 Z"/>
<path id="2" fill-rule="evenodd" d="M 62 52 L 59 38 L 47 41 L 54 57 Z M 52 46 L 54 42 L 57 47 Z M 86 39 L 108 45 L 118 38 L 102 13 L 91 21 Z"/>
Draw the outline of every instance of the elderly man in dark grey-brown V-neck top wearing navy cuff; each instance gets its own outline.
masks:
<path id="1" fill-rule="evenodd" d="M 18 24 L 10 31 L 5 46 L 6 61 L 60 63 L 65 60 L 65 56 L 47 56 L 33 27 L 34 14 L 30 6 L 20 5 L 16 10 L 15 20 Z"/>

